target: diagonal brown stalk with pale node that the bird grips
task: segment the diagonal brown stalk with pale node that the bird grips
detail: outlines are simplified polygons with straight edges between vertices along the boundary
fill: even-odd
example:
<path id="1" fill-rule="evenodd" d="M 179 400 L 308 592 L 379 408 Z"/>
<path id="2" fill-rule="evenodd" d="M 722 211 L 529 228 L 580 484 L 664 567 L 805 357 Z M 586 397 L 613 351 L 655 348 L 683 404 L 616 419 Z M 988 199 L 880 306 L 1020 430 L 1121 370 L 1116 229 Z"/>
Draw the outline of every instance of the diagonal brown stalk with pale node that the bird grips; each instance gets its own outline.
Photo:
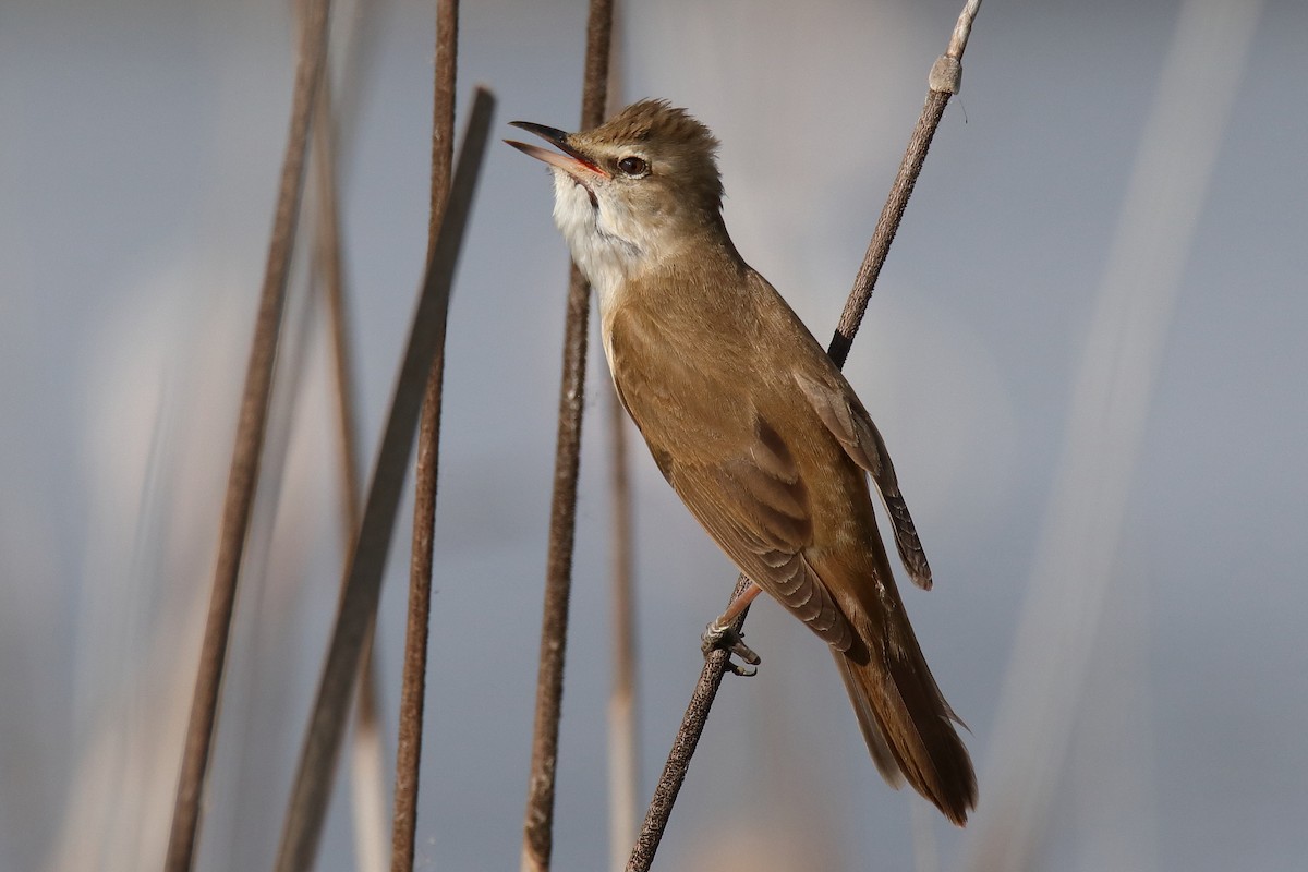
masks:
<path id="1" fill-rule="evenodd" d="M 840 326 L 836 328 L 836 335 L 832 337 L 831 346 L 828 349 L 828 353 L 836 362 L 836 366 L 842 366 L 845 363 L 845 357 L 849 354 L 854 333 L 858 332 L 863 314 L 867 311 L 867 302 L 871 298 L 872 288 L 876 284 L 876 276 L 880 273 L 882 264 L 886 261 L 886 254 L 889 251 L 891 242 L 895 239 L 895 233 L 899 230 L 900 218 L 904 216 L 904 208 L 908 205 L 908 199 L 913 193 L 913 184 L 917 182 L 918 173 L 922 170 L 922 162 L 926 159 L 926 152 L 931 145 L 931 137 L 935 135 L 935 128 L 939 126 L 940 118 L 944 114 L 946 103 L 948 103 L 950 97 L 956 94 L 959 90 L 963 69 L 960 61 L 963 59 L 963 51 L 967 47 L 968 34 L 972 29 L 972 20 L 976 17 L 980 5 L 981 0 L 968 1 L 963 13 L 959 16 L 959 24 L 954 29 L 954 35 L 950 41 L 947 52 L 942 55 L 931 68 L 926 105 L 923 106 L 922 114 L 917 120 L 917 126 L 913 128 L 913 135 L 909 137 L 908 148 L 904 152 L 904 159 L 900 162 L 899 174 L 895 178 L 895 183 L 891 186 L 886 207 L 882 209 L 882 216 L 876 222 L 876 229 L 872 231 L 872 239 L 867 246 L 867 254 L 863 258 L 863 264 L 859 267 L 858 276 L 854 280 L 854 288 L 849 294 L 848 302 L 845 303 L 845 311 L 841 315 Z M 746 587 L 747 579 L 742 575 L 736 580 L 735 591 L 731 594 L 732 603 L 738 596 L 740 596 L 740 594 L 744 592 Z M 742 613 L 740 617 L 736 618 L 732 625 L 736 631 L 740 630 L 744 624 L 744 618 L 746 613 Z M 672 804 L 676 801 L 676 795 L 681 790 L 681 783 L 685 780 L 685 773 L 691 765 L 691 756 L 695 753 L 695 746 L 698 744 L 700 736 L 704 733 L 704 726 L 708 722 L 709 711 L 713 707 L 713 699 L 722 684 L 722 675 L 726 667 L 727 656 L 722 651 L 714 651 L 704 663 L 704 669 L 700 672 L 700 680 L 695 686 L 691 703 L 687 706 L 685 716 L 681 719 L 681 727 L 678 729 L 676 737 L 672 741 L 672 750 L 663 767 L 663 774 L 659 777 L 658 786 L 654 790 L 654 799 L 650 801 L 649 809 L 645 814 L 645 824 L 641 826 L 636 847 L 632 850 L 632 856 L 627 863 L 628 872 L 645 872 L 654 862 L 654 854 L 658 851 L 659 841 L 663 838 L 668 817 L 672 813 Z"/>

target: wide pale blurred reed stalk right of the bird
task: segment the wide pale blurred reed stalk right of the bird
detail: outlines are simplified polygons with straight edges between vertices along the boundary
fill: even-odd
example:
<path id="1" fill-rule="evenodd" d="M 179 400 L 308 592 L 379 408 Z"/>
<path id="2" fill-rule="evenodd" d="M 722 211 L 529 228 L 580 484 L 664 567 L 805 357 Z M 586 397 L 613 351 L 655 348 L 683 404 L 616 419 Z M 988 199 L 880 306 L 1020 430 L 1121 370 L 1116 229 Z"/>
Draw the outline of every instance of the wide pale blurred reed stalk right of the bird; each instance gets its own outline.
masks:
<path id="1" fill-rule="evenodd" d="M 1033 869 L 1097 660 L 1159 362 L 1261 4 L 1186 0 L 1162 65 L 1080 354 L 967 868 Z M 1105 801 L 1122 803 L 1113 795 Z M 1142 859 L 1142 863 L 1148 860 Z"/>

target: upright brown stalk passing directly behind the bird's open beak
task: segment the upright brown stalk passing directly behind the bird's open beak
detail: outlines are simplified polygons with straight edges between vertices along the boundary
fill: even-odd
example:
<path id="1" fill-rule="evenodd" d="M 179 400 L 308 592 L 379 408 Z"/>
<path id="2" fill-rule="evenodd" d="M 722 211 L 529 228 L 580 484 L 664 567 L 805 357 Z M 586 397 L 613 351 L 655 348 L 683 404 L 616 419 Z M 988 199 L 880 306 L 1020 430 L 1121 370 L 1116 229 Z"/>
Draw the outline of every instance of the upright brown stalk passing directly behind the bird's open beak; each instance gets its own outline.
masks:
<path id="1" fill-rule="evenodd" d="M 612 24 L 612 0 L 591 0 L 586 22 L 586 77 L 581 99 L 583 128 L 595 127 L 604 120 Z M 572 594 L 589 315 L 590 286 L 574 264 L 568 284 L 568 315 L 564 326 L 564 371 L 559 390 L 555 489 L 549 509 L 545 601 L 540 618 L 540 667 L 536 676 L 531 775 L 527 783 L 527 811 L 522 837 L 523 872 L 549 869 L 549 855 L 553 850 L 555 769 L 559 761 L 559 718 L 562 714 L 568 600 Z"/>

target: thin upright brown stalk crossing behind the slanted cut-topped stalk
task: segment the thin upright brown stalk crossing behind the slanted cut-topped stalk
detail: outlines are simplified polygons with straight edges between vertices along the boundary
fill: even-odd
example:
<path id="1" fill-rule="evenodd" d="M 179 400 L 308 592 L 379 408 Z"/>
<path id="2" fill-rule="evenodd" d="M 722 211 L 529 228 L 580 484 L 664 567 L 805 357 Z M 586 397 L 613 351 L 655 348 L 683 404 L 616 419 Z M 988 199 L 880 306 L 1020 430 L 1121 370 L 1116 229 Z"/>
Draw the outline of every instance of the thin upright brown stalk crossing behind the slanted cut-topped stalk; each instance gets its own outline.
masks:
<path id="1" fill-rule="evenodd" d="M 432 112 L 432 204 L 428 250 L 436 248 L 454 162 L 454 81 L 458 68 L 459 4 L 439 0 L 436 12 L 436 95 Z M 441 332 L 445 332 L 443 324 Z M 436 486 L 441 448 L 441 386 L 445 346 L 428 373 L 415 471 L 413 546 L 409 558 L 408 625 L 404 631 L 404 679 L 400 688 L 399 741 L 395 745 L 395 813 L 391 869 L 413 868 L 417 787 L 422 762 L 422 705 L 426 697 L 426 645 L 432 611 L 432 540 L 436 535 Z"/>

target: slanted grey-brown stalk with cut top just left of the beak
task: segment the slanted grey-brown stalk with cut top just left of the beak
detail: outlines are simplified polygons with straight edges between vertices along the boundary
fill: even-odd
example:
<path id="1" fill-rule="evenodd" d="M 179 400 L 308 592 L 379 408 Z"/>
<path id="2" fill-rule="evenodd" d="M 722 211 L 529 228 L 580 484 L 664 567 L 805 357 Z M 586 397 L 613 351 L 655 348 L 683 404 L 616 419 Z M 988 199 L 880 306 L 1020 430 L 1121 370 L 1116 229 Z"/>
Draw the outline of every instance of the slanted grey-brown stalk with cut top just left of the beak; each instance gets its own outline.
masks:
<path id="1" fill-rule="evenodd" d="M 399 511 L 422 394 L 432 361 L 445 340 L 439 327 L 445 324 L 449 311 L 454 268 L 472 208 L 472 193 L 485 152 L 493 106 L 494 97 L 490 92 L 477 89 L 450 186 L 445 220 L 428 259 L 408 344 L 391 396 L 364 520 L 354 543 L 348 582 L 340 597 L 322 682 L 292 787 L 275 867 L 279 872 L 309 869 L 318 848 L 354 675 L 368 628 L 377 614 L 386 553 Z"/>

